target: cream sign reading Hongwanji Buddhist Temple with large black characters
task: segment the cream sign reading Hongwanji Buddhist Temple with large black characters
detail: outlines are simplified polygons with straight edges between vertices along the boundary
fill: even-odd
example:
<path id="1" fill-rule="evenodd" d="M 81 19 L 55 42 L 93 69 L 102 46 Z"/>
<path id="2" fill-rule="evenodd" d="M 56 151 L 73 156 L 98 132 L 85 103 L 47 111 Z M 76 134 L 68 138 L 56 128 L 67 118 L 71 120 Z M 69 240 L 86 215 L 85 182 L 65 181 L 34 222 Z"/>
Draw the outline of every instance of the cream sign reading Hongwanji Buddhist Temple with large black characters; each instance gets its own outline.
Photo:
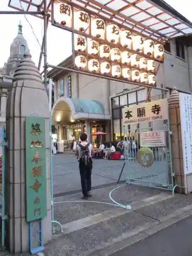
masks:
<path id="1" fill-rule="evenodd" d="M 167 99 L 155 100 L 122 109 L 123 125 L 168 119 Z"/>

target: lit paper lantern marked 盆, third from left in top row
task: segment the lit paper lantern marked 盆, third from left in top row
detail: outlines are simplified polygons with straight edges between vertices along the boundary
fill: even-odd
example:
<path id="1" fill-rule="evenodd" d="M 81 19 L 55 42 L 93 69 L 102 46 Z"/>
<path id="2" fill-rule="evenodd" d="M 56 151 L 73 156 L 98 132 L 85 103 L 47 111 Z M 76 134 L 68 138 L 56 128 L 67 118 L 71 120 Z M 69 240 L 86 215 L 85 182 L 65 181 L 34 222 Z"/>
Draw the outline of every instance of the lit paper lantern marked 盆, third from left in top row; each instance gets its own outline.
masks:
<path id="1" fill-rule="evenodd" d="M 97 38 L 104 39 L 105 22 L 101 18 L 95 18 L 91 22 L 91 34 Z"/>

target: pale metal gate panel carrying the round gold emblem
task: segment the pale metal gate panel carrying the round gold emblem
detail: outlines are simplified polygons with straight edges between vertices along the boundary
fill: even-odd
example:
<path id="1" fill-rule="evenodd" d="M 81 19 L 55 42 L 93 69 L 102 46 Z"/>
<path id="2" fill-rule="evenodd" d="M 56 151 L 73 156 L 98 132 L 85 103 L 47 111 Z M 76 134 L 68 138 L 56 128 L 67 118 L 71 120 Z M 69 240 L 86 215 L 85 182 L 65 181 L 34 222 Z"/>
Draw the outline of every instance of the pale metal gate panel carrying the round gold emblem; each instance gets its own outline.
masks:
<path id="1" fill-rule="evenodd" d="M 130 110 L 126 111 L 131 113 Z M 123 127 L 126 183 L 174 191 L 169 119 Z"/>

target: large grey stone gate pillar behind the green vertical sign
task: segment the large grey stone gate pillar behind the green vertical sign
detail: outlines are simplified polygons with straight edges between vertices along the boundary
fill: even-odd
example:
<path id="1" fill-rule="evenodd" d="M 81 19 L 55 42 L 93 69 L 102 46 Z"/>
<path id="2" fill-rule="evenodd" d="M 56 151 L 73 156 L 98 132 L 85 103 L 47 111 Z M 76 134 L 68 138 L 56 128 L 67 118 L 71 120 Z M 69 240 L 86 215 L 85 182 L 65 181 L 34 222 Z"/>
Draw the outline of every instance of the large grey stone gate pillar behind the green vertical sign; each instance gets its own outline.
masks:
<path id="1" fill-rule="evenodd" d="M 49 103 L 40 74 L 31 60 L 24 55 L 14 77 L 13 89 L 8 95 L 6 111 L 6 228 L 7 248 L 10 252 L 29 250 L 29 223 L 26 222 L 26 117 L 46 118 L 46 173 L 47 217 L 44 218 L 44 244 L 51 240 L 51 182 Z"/>

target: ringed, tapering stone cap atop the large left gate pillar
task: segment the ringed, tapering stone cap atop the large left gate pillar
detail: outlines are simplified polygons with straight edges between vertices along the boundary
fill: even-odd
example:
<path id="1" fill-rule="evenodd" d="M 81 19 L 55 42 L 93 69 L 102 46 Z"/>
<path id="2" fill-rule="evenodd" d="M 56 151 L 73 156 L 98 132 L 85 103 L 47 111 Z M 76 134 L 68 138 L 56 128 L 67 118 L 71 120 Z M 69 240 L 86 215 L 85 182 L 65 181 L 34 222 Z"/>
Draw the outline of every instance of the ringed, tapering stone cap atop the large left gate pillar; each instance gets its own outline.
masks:
<path id="1" fill-rule="evenodd" d="M 24 59 L 20 61 L 15 70 L 13 81 L 18 80 L 34 80 L 42 83 L 40 73 L 31 59 L 31 54 L 29 52 L 24 54 Z"/>

